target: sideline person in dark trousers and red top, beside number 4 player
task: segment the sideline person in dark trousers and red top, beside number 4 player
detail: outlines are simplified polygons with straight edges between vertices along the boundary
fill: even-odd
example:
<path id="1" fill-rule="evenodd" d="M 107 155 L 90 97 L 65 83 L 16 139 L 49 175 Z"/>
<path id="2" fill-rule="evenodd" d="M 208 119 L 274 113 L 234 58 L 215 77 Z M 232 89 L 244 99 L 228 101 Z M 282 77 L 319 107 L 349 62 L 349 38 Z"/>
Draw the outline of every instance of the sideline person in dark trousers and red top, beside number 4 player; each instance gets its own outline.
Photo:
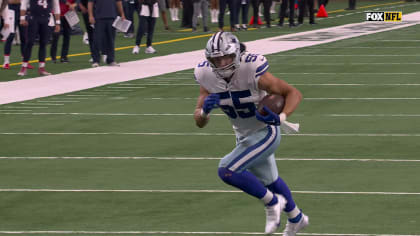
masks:
<path id="1" fill-rule="evenodd" d="M 60 62 L 62 63 L 68 63 L 69 59 L 67 58 L 67 55 L 69 54 L 69 47 L 70 47 L 70 35 L 71 35 L 71 26 L 66 20 L 66 17 L 64 15 L 68 11 L 75 11 L 76 8 L 76 1 L 75 0 L 59 0 L 60 1 L 60 12 L 61 12 L 61 26 L 62 26 L 62 32 L 63 32 L 63 45 L 61 47 L 61 58 Z M 53 34 L 53 40 L 51 43 L 51 60 L 56 63 L 57 62 L 57 44 L 58 39 L 60 38 L 61 32 L 54 32 Z"/>

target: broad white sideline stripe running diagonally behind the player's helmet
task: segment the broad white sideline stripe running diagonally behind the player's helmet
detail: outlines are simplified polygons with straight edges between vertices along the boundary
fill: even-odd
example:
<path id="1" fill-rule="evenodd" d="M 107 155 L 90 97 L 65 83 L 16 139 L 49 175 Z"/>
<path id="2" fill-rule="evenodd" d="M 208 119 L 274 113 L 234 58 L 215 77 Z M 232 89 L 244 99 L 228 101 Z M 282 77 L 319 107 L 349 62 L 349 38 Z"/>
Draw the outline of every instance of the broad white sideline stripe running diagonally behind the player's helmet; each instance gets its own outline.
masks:
<path id="1" fill-rule="evenodd" d="M 420 24 L 420 12 L 404 15 L 403 22 L 400 23 L 362 22 L 347 24 L 246 42 L 246 45 L 249 51 L 265 55 L 405 28 L 416 24 Z M 374 29 L 375 27 L 377 28 Z M 331 37 L 322 40 L 319 38 L 321 34 Z M 200 60 L 204 60 L 203 50 L 121 63 L 119 68 L 102 66 L 46 77 L 1 82 L 0 104 L 65 94 L 107 84 L 192 69 Z"/>

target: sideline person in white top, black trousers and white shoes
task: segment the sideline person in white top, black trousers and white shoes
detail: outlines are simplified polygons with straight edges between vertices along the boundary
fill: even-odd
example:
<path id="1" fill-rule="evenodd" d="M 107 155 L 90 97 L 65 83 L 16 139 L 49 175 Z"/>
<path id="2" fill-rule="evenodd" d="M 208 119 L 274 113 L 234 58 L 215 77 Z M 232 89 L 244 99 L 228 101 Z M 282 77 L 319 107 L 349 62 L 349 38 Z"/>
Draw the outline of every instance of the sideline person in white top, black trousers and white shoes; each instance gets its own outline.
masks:
<path id="1" fill-rule="evenodd" d="M 147 54 L 156 53 L 152 47 L 153 33 L 155 32 L 156 18 L 159 17 L 159 6 L 157 0 L 139 0 L 140 1 L 140 22 L 137 30 L 136 45 L 133 48 L 133 54 L 139 54 L 140 43 L 144 34 L 147 33 L 146 49 Z"/>

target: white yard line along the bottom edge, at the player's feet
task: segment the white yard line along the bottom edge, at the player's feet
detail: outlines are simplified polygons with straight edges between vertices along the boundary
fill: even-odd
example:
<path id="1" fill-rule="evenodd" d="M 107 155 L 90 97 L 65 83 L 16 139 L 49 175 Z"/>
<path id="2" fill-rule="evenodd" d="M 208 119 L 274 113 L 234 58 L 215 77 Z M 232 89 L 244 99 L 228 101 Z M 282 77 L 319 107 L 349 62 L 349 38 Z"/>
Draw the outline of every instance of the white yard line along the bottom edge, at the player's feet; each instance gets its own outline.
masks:
<path id="1" fill-rule="evenodd" d="M 38 231 L 0 231 L 0 234 L 190 234 L 190 235 L 266 235 L 262 232 L 182 232 L 182 231 L 70 231 L 70 230 L 38 230 Z M 283 235 L 283 233 L 273 233 Z M 336 233 L 298 233 L 306 236 L 420 236 L 418 234 L 336 234 Z"/>

